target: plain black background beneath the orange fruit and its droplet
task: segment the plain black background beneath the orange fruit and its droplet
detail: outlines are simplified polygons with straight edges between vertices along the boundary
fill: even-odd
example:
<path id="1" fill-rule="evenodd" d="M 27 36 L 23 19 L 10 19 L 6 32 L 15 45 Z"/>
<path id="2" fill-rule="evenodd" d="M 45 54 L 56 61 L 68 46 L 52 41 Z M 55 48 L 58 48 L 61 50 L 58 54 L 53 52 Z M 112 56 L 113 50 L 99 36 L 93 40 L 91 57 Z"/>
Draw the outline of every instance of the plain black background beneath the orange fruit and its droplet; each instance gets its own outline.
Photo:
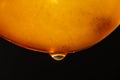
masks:
<path id="1" fill-rule="evenodd" d="M 0 38 L 0 80 L 120 80 L 119 45 L 120 27 L 95 46 L 58 62 Z"/>

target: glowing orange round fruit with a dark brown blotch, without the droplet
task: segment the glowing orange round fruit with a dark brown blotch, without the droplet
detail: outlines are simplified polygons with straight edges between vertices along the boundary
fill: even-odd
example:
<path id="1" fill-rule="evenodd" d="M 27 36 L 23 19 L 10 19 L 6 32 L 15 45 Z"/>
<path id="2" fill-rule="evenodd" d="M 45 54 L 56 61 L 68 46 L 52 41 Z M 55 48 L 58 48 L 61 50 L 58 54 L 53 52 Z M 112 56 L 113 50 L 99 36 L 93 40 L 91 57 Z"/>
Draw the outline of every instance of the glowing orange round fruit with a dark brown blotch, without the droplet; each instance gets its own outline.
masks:
<path id="1" fill-rule="evenodd" d="M 0 35 L 47 53 L 88 48 L 120 22 L 120 0 L 0 0 Z"/>

